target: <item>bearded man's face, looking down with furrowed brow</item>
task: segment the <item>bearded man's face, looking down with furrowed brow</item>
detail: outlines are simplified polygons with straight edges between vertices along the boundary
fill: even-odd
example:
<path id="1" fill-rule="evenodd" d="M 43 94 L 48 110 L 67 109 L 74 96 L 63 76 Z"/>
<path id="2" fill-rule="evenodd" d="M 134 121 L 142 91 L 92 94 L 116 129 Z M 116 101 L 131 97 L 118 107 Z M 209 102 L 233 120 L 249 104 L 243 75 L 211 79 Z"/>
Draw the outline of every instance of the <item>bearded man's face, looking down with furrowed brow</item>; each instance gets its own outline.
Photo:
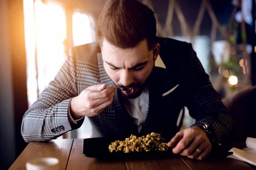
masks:
<path id="1" fill-rule="evenodd" d="M 124 96 L 140 96 L 154 67 L 160 45 L 154 45 L 153 51 L 148 50 L 147 40 L 129 49 L 117 48 L 105 40 L 102 45 L 104 68 L 108 76 L 121 89 L 133 88 L 133 91 L 122 91 Z"/>

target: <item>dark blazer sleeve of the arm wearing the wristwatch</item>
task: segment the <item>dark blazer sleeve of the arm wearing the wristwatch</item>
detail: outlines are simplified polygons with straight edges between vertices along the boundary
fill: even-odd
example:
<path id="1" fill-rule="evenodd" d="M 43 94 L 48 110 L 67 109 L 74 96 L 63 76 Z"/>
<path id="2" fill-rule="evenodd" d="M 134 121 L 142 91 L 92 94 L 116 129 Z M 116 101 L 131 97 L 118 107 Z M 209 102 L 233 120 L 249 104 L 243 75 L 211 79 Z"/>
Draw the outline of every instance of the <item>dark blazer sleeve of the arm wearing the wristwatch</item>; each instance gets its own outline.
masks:
<path id="1" fill-rule="evenodd" d="M 186 107 L 196 123 L 205 122 L 214 129 L 217 142 L 227 136 L 232 128 L 233 120 L 227 115 L 226 107 L 221 97 L 212 87 L 208 74 L 205 73 L 191 44 L 188 44 L 189 54 L 185 56 L 184 82 L 186 85 Z M 192 125 L 195 126 L 195 125 Z"/>

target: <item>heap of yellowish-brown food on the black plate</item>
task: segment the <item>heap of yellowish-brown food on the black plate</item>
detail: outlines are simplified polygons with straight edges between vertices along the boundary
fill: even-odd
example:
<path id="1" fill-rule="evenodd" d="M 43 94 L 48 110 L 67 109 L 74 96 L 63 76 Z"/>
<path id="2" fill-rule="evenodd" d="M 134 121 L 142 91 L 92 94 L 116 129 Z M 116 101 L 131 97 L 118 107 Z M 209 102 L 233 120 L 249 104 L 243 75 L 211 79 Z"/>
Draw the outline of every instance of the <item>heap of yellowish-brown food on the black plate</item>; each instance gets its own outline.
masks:
<path id="1" fill-rule="evenodd" d="M 165 143 L 165 139 L 160 134 L 152 132 L 146 137 L 138 137 L 131 135 L 125 141 L 111 142 L 109 151 L 112 152 L 148 152 L 151 150 L 168 150 L 169 147 Z"/>

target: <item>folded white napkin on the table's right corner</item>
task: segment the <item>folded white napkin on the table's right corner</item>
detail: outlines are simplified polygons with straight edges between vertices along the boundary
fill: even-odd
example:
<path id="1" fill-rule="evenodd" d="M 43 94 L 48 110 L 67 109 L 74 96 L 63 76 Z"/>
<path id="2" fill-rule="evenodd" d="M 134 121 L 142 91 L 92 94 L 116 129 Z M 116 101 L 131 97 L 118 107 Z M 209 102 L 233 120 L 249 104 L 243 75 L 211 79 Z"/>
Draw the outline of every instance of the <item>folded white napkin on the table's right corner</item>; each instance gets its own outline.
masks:
<path id="1" fill-rule="evenodd" d="M 229 150 L 233 154 L 227 156 L 227 158 L 238 159 L 256 166 L 256 139 L 248 137 L 246 139 L 246 146 L 243 150 L 233 147 Z"/>

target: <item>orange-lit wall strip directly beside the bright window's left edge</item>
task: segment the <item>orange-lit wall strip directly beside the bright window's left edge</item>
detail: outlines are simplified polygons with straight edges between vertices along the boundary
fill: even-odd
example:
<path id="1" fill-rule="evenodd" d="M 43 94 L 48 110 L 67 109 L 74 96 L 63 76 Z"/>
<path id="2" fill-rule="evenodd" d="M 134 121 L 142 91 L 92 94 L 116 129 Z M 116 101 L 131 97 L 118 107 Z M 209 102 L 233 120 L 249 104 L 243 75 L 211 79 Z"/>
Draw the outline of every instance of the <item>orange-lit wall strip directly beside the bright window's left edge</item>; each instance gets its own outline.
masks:
<path id="1" fill-rule="evenodd" d="M 26 147 L 20 127 L 28 109 L 26 87 L 26 48 L 23 14 L 23 0 L 6 0 L 8 7 L 8 30 L 12 63 L 12 97 L 15 125 L 15 156 Z"/>

